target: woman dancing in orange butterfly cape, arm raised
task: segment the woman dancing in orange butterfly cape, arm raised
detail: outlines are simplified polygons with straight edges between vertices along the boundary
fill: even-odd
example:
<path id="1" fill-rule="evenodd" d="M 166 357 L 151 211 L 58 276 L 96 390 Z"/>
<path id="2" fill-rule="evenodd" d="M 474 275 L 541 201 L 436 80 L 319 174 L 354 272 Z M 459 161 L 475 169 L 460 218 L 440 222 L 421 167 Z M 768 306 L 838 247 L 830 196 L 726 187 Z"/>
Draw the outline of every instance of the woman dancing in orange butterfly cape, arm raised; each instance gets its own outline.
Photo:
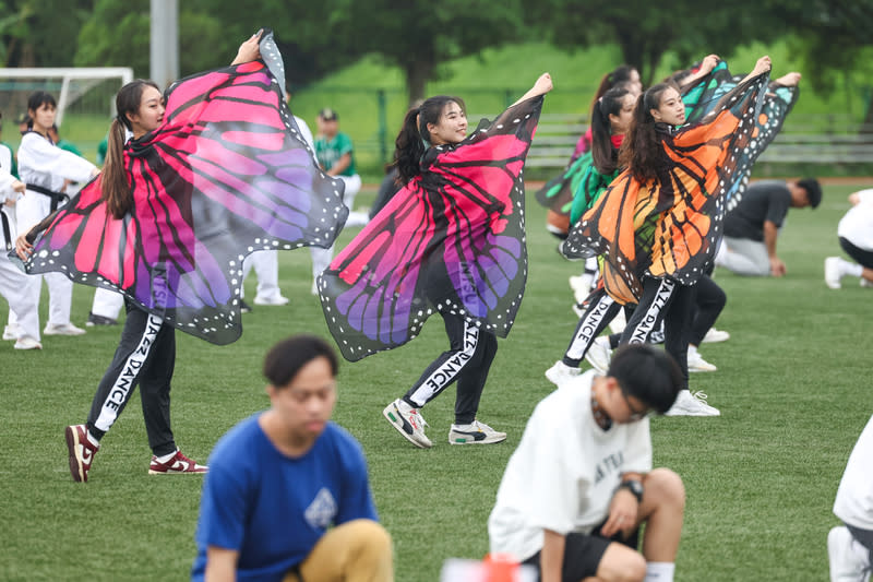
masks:
<path id="1" fill-rule="evenodd" d="M 716 416 L 687 391 L 690 286 L 711 264 L 721 237 L 725 192 L 737 154 L 746 149 L 767 91 L 768 57 L 697 123 L 685 119 L 679 91 L 666 83 L 639 97 L 621 162 L 627 169 L 582 218 L 565 248 L 605 254 L 610 298 L 636 301 L 621 343 L 644 343 L 665 319 L 667 351 L 685 378 L 675 411 Z"/>

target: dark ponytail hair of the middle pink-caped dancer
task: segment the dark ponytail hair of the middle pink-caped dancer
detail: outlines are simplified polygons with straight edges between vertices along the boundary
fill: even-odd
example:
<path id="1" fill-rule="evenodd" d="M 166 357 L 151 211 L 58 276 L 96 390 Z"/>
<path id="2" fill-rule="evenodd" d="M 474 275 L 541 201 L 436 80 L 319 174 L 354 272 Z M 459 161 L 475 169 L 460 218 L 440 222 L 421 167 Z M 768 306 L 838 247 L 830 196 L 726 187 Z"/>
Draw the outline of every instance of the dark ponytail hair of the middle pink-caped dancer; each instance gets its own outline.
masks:
<path id="1" fill-rule="evenodd" d="M 421 174 L 421 156 L 424 154 L 422 140 L 430 143 L 428 123 L 439 124 L 440 116 L 449 103 L 456 103 L 462 111 L 467 111 L 464 99 L 447 95 L 430 97 L 421 104 L 421 107 L 407 111 L 400 132 L 394 141 L 394 165 L 399 173 L 397 183 L 404 185 Z"/>

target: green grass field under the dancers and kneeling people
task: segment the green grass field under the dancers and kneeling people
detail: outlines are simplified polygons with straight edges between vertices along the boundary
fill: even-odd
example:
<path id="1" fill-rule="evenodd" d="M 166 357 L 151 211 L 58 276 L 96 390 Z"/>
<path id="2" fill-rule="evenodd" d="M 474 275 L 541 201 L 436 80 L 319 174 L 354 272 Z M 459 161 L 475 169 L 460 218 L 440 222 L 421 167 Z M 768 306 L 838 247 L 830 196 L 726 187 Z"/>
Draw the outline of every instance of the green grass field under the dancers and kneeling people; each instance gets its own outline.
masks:
<path id="1" fill-rule="evenodd" d="M 836 225 L 853 189 L 826 187 L 816 211 L 789 213 L 779 238 L 784 280 L 717 273 L 728 294 L 717 326 L 731 340 L 703 346 L 719 370 L 693 375 L 692 389 L 707 392 L 722 416 L 653 420 L 656 465 L 675 470 L 687 489 L 678 581 L 827 577 L 837 484 L 873 412 L 873 290 L 848 278 L 839 292 L 823 283 L 823 260 L 839 253 Z M 555 253 L 542 209 L 528 198 L 528 287 L 513 332 L 500 342 L 480 408 L 483 421 L 509 432 L 506 442 L 451 447 L 451 389 L 424 409 L 431 450 L 414 449 L 382 418 L 385 404 L 444 349 L 439 318 L 409 345 L 340 367 L 335 420 L 363 444 L 376 506 L 394 537 L 398 581 L 435 581 L 445 558 L 487 551 L 486 521 L 503 468 L 531 409 L 552 390 L 542 372 L 575 325 L 566 277 L 578 263 Z M 339 245 L 352 235 L 344 233 Z M 327 336 L 309 294 L 309 253 L 280 253 L 280 265 L 290 305 L 255 308 L 237 343 L 218 347 L 177 334 L 174 426 L 194 459 L 205 461 L 228 428 L 267 405 L 260 367 L 273 343 L 299 332 Z M 253 287 L 251 278 L 249 297 Z M 75 286 L 74 322 L 84 323 L 92 296 Z M 139 399 L 104 439 L 91 482 L 70 479 L 63 427 L 84 421 L 119 331 L 45 337 L 45 349 L 35 353 L 0 344 L 0 513 L 7 520 L 0 580 L 189 574 L 201 478 L 147 475 Z"/>

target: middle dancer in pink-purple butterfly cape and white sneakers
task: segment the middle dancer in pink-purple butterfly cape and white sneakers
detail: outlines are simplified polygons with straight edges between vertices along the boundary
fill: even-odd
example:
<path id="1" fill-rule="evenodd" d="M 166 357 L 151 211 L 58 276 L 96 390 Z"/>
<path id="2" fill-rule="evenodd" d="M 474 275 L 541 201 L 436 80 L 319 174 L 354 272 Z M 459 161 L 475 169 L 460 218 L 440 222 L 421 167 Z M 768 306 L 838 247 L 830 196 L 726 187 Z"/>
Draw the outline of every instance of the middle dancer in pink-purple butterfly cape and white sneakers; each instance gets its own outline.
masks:
<path id="1" fill-rule="evenodd" d="M 450 349 L 383 415 L 409 442 L 432 446 L 419 408 L 457 381 L 453 444 L 506 438 L 476 419 L 495 335 L 524 294 L 525 156 L 539 118 L 543 74 L 492 123 L 467 136 L 464 102 L 431 97 L 396 140 L 400 190 L 319 278 L 327 325 L 347 359 L 415 337 L 434 309 Z M 422 144 L 431 147 L 427 151 Z"/>

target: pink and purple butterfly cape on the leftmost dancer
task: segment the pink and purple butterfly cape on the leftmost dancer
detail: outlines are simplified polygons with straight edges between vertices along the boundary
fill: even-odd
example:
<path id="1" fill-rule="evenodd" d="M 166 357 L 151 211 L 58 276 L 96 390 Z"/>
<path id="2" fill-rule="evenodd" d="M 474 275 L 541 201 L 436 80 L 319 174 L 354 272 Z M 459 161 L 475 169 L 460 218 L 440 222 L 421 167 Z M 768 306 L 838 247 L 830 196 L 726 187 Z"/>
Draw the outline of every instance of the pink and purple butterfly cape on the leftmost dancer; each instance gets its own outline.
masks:
<path id="1" fill-rule="evenodd" d="M 271 33 L 261 54 L 175 83 L 164 124 L 124 149 L 133 210 L 113 218 L 96 178 L 37 238 L 27 272 L 60 271 L 183 332 L 236 341 L 243 259 L 330 247 L 348 215 L 343 182 L 318 168 L 283 98 Z"/>

